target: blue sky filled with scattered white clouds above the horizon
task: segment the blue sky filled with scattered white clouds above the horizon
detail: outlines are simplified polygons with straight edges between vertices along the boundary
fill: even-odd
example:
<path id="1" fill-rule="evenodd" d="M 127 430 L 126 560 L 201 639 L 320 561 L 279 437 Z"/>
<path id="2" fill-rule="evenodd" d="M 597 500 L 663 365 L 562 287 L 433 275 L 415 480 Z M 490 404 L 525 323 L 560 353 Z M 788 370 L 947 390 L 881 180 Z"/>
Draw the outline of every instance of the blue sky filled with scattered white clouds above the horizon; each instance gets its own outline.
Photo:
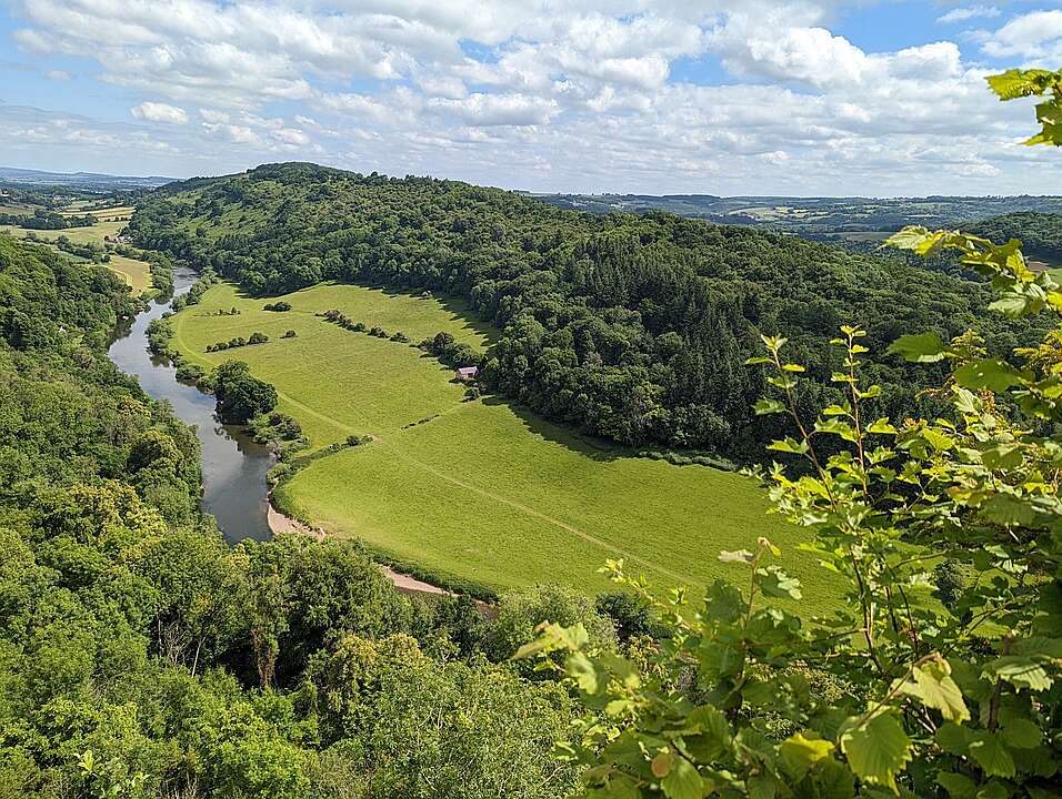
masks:
<path id="1" fill-rule="evenodd" d="M 0 165 L 537 192 L 1062 193 L 1062 0 L 0 0 Z"/>

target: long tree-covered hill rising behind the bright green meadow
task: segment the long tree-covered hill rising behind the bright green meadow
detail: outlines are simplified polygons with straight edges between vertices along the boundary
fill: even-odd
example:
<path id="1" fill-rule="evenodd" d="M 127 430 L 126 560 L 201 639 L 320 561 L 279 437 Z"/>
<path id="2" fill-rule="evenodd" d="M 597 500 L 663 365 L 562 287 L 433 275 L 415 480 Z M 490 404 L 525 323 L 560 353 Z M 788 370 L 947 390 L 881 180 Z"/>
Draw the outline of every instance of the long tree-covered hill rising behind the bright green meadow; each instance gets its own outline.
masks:
<path id="1" fill-rule="evenodd" d="M 784 332 L 823 387 L 840 365 L 828 340 L 858 322 L 882 353 L 905 332 L 984 331 L 982 285 L 900 257 L 665 213 L 565 211 L 495 189 L 393 179 L 305 163 L 196 179 L 137 211 L 138 245 L 212 266 L 256 294 L 337 280 L 468 299 L 502 328 L 481 374 L 539 413 L 644 446 L 758 457 L 780 429 L 751 407 L 764 386 L 744 361 Z M 899 361 L 870 372 L 882 413 L 913 407 L 928 380 Z"/>

